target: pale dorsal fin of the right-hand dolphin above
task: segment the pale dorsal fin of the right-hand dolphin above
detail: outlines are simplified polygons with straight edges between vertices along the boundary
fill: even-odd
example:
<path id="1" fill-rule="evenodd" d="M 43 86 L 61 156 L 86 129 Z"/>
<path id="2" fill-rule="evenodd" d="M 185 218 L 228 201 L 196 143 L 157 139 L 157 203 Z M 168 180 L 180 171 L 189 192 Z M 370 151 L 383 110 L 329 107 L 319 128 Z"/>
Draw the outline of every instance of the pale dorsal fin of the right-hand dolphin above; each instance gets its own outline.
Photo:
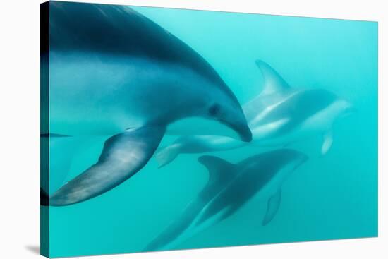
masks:
<path id="1" fill-rule="evenodd" d="M 279 73 L 264 61 L 257 59 L 256 65 L 264 78 L 264 87 L 260 95 L 269 95 L 274 92 L 284 91 L 290 88 L 289 84 L 281 78 Z"/>

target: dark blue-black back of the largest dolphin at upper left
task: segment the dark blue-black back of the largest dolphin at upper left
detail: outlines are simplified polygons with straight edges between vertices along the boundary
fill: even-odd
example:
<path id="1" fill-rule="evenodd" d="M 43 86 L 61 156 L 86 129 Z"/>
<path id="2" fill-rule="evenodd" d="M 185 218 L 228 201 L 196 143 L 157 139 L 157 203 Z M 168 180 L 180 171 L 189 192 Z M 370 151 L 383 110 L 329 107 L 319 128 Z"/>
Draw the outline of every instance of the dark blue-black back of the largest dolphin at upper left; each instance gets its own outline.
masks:
<path id="1" fill-rule="evenodd" d="M 50 50 L 142 56 L 182 64 L 225 85 L 200 54 L 128 6 L 51 1 Z"/>

